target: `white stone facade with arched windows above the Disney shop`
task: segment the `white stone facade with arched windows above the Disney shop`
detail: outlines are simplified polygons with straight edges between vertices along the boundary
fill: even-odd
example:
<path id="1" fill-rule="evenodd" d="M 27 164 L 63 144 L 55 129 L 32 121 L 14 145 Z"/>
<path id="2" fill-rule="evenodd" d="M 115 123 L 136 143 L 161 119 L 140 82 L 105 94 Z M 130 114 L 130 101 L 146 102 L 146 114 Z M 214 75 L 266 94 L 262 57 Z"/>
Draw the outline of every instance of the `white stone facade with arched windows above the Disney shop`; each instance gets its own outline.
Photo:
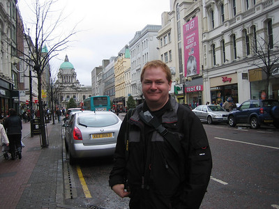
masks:
<path id="1" fill-rule="evenodd" d="M 204 99 L 220 103 L 232 97 L 242 103 L 266 98 L 267 89 L 269 98 L 278 99 L 279 1 L 204 0 L 203 5 Z"/>

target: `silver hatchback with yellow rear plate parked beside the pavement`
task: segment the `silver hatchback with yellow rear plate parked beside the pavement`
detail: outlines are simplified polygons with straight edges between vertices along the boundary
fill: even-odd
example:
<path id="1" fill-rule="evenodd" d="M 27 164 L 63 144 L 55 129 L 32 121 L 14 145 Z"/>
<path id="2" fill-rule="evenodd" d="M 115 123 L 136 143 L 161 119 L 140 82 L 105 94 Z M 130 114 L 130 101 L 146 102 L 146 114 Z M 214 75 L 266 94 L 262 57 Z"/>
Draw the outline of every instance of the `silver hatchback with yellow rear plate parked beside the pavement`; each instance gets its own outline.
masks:
<path id="1" fill-rule="evenodd" d="M 114 155 L 121 119 L 111 111 L 83 111 L 66 124 L 70 164 L 84 157 Z"/>

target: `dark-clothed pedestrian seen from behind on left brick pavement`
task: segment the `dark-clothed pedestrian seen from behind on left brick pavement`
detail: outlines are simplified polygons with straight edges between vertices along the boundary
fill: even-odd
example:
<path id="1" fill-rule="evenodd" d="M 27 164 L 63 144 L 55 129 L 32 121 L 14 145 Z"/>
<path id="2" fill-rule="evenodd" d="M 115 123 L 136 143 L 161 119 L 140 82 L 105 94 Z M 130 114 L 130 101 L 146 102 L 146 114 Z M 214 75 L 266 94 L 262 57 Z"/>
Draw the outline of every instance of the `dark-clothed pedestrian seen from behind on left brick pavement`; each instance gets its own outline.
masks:
<path id="1" fill-rule="evenodd" d="M 22 159 L 22 121 L 15 109 L 9 109 L 9 116 L 5 118 L 3 126 L 6 129 L 10 155 L 12 160 L 15 160 L 15 149 L 19 159 Z"/>

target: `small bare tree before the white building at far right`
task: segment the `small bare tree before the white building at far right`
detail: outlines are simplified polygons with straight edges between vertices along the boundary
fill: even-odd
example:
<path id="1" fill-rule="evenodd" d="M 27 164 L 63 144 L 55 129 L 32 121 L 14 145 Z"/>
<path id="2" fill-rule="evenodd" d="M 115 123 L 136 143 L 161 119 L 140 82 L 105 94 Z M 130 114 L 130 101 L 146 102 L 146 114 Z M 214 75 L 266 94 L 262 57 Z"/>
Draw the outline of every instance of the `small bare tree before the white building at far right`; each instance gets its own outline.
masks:
<path id="1" fill-rule="evenodd" d="M 266 75 L 266 98 L 269 99 L 269 85 L 273 73 L 278 70 L 278 42 L 273 42 L 273 38 L 263 38 L 258 36 L 252 44 L 253 61 L 249 61 L 249 65 L 256 66 Z"/>

